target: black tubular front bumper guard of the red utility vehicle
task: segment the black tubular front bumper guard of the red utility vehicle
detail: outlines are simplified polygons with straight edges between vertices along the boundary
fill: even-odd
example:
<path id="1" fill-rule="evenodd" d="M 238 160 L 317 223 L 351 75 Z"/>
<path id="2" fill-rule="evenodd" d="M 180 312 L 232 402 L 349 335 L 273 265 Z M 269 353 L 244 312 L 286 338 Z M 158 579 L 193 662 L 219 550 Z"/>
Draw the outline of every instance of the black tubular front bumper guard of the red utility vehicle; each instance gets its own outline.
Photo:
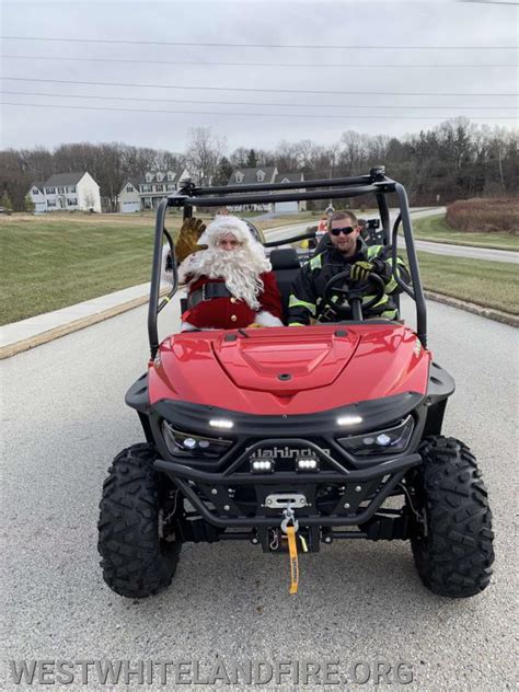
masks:
<path id="1" fill-rule="evenodd" d="M 268 439 L 268 445 L 281 443 L 312 450 L 324 468 L 311 473 L 244 472 L 246 459 L 265 447 L 265 440 L 249 447 L 221 472 L 164 459 L 158 459 L 154 466 L 175 483 L 207 522 L 219 529 L 243 529 L 279 527 L 282 514 L 266 503 L 276 493 L 304 496 L 305 506 L 296 511 L 302 527 L 362 526 L 373 518 L 406 472 L 422 463 L 420 454 L 413 453 L 349 470 L 304 438 Z"/>

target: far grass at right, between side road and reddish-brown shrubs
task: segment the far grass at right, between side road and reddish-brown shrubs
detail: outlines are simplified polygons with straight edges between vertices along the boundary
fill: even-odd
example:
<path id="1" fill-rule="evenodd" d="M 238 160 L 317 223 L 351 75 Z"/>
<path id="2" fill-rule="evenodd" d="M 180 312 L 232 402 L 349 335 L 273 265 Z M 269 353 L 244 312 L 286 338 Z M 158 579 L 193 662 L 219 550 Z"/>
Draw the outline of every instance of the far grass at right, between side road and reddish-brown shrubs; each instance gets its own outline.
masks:
<path id="1" fill-rule="evenodd" d="M 509 233 L 469 233 L 457 231 L 447 224 L 445 214 L 413 220 L 415 238 L 450 245 L 472 245 L 495 250 L 519 251 L 519 235 Z"/>

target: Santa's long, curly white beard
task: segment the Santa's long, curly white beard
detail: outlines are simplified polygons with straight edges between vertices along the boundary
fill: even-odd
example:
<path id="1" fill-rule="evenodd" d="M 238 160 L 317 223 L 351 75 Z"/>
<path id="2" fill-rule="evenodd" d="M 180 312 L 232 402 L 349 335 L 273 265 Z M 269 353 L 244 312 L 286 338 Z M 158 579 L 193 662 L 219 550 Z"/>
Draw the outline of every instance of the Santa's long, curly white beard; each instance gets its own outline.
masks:
<path id="1" fill-rule="evenodd" d="M 246 249 L 230 252 L 208 249 L 189 255 L 181 264 L 178 280 L 191 285 L 200 276 L 223 278 L 234 298 L 244 300 L 252 310 L 258 310 L 257 296 L 264 288 L 260 274 L 269 269 L 270 263 L 260 253 L 251 253 Z"/>

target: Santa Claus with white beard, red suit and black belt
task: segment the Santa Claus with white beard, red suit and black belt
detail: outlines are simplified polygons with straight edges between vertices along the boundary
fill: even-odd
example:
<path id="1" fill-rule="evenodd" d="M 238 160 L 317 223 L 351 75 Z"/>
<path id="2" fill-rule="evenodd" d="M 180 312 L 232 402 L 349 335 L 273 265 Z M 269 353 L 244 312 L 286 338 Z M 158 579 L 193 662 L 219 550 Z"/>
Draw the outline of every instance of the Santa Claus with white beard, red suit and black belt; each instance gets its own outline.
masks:
<path id="1" fill-rule="evenodd" d="M 245 221 L 217 217 L 201 232 L 198 245 L 206 249 L 178 266 L 178 282 L 187 288 L 182 331 L 282 326 L 276 276 Z"/>

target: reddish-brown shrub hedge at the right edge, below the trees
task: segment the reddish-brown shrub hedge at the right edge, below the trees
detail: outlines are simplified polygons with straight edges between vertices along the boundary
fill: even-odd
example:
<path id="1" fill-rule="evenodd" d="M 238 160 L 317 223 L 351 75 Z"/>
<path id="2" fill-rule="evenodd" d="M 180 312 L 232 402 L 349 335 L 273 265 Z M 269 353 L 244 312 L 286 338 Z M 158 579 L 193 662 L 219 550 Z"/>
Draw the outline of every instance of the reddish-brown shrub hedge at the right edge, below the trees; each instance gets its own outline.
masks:
<path id="1" fill-rule="evenodd" d="M 517 235 L 519 199 L 476 198 L 447 207 L 447 223 L 459 231 Z"/>

